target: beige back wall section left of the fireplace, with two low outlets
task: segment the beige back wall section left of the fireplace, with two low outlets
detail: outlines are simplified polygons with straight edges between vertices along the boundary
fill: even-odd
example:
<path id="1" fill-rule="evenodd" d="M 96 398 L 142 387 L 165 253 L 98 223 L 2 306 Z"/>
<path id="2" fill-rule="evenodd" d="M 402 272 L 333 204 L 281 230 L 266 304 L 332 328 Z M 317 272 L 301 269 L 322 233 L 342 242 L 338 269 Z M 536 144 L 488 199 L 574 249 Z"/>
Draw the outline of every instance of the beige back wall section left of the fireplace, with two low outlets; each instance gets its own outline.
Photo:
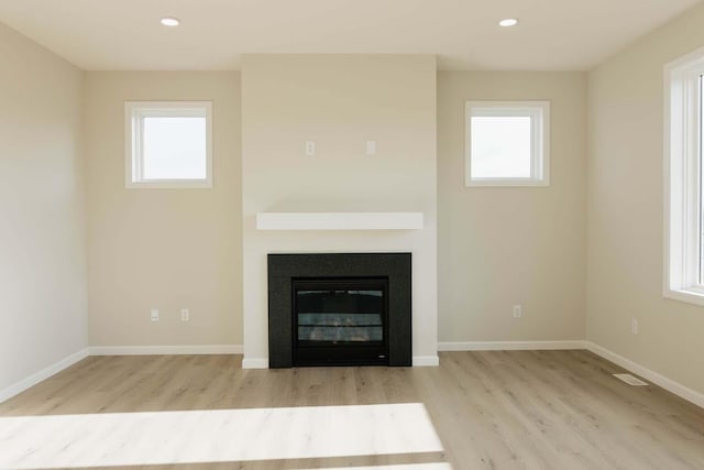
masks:
<path id="1" fill-rule="evenodd" d="M 125 189 L 125 100 L 212 101 L 211 189 Z M 241 345 L 239 73 L 89 72 L 85 102 L 90 345 Z"/>

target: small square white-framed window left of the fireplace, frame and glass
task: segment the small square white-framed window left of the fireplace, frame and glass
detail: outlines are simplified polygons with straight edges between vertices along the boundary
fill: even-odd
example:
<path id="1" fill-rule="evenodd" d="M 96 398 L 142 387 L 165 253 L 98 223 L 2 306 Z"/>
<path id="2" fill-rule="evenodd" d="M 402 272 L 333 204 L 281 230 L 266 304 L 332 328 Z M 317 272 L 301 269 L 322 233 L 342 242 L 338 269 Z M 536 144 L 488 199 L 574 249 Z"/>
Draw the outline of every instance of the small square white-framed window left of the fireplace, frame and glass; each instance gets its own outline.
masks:
<path id="1" fill-rule="evenodd" d="M 211 117 L 209 101 L 125 102 L 127 187 L 212 187 Z"/>

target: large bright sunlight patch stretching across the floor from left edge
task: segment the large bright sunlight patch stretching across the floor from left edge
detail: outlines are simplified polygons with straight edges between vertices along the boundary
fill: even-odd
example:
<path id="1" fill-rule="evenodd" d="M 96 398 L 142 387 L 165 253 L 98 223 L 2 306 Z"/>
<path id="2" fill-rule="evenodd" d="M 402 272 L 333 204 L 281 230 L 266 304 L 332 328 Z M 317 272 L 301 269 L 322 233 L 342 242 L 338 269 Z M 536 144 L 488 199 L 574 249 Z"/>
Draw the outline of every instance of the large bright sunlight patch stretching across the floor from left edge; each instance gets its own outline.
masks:
<path id="1" fill-rule="evenodd" d="M 442 450 L 420 403 L 0 417 L 8 470 Z"/>

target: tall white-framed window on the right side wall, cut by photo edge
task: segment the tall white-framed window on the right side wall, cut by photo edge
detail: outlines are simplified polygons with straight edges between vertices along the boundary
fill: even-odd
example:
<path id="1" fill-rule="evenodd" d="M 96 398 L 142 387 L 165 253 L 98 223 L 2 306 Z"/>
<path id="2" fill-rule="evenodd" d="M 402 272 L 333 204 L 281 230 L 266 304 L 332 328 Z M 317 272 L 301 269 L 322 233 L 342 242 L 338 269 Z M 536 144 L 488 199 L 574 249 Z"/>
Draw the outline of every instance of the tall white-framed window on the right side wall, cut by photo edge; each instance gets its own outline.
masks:
<path id="1" fill-rule="evenodd" d="M 664 296 L 704 305 L 704 50 L 666 66 Z"/>

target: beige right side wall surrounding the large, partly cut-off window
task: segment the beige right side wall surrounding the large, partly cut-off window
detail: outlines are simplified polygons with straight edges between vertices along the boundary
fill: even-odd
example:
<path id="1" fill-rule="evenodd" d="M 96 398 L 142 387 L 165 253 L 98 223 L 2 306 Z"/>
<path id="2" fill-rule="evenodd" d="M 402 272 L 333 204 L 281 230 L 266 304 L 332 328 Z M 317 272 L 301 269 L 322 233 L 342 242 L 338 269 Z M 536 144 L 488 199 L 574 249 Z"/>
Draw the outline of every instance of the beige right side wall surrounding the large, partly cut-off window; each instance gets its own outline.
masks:
<path id="1" fill-rule="evenodd" d="M 704 6 L 592 70 L 587 193 L 587 339 L 700 393 L 704 309 L 662 296 L 662 152 L 663 66 L 702 24 Z"/>

